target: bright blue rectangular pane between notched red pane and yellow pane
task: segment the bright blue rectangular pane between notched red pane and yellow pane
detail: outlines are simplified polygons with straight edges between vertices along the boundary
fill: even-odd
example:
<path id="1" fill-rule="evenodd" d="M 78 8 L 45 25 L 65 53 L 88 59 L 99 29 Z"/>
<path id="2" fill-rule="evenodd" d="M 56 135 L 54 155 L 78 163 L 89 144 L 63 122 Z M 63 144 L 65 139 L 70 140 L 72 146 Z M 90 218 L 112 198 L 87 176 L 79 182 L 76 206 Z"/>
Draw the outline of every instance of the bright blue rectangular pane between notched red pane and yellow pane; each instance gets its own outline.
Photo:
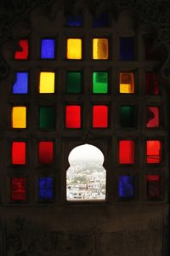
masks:
<path id="1" fill-rule="evenodd" d="M 42 39 L 42 59 L 54 59 L 54 44 L 54 39 Z"/>

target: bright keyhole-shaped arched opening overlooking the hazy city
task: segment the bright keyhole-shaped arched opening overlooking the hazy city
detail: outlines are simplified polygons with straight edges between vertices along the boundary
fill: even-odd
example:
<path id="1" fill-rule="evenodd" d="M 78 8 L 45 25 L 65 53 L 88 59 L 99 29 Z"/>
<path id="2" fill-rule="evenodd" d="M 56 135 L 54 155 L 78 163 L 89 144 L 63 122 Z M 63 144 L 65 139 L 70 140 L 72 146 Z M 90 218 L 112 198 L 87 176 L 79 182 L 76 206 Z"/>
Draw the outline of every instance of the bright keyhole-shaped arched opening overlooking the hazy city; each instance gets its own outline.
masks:
<path id="1" fill-rule="evenodd" d="M 73 148 L 66 172 L 67 201 L 104 201 L 106 171 L 104 154 L 99 148 L 84 144 Z"/>

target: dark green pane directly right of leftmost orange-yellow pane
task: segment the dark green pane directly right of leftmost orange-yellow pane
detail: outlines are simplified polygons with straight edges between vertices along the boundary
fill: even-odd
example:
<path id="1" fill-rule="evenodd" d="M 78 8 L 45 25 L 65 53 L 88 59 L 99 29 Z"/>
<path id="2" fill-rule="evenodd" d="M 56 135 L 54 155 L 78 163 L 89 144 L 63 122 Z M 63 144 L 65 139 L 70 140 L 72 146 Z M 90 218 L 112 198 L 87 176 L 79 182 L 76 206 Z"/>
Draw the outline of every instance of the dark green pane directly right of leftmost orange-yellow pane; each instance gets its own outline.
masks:
<path id="1" fill-rule="evenodd" d="M 43 129 L 54 128 L 54 108 L 42 107 L 40 108 L 39 125 Z"/>

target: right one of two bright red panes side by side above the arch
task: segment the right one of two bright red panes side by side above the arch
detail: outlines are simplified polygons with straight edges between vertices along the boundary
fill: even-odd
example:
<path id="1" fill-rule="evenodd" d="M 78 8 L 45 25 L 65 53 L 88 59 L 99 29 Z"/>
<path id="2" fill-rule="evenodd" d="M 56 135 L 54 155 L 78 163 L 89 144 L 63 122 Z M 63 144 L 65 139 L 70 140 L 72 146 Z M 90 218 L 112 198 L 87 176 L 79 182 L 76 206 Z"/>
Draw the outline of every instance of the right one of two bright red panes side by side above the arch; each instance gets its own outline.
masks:
<path id="1" fill-rule="evenodd" d="M 93 127 L 94 128 L 108 127 L 108 107 L 107 106 L 93 107 Z"/>

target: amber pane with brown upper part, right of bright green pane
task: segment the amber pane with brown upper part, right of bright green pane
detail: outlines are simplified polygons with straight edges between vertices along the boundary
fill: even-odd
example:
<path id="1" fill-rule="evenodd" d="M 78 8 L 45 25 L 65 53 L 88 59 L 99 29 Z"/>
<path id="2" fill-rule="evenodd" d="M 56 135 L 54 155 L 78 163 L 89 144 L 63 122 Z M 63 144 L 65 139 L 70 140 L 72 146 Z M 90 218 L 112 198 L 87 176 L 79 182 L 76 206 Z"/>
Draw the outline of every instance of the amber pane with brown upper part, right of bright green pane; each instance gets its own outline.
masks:
<path id="1" fill-rule="evenodd" d="M 120 93 L 134 93 L 134 74 L 120 73 Z"/>

